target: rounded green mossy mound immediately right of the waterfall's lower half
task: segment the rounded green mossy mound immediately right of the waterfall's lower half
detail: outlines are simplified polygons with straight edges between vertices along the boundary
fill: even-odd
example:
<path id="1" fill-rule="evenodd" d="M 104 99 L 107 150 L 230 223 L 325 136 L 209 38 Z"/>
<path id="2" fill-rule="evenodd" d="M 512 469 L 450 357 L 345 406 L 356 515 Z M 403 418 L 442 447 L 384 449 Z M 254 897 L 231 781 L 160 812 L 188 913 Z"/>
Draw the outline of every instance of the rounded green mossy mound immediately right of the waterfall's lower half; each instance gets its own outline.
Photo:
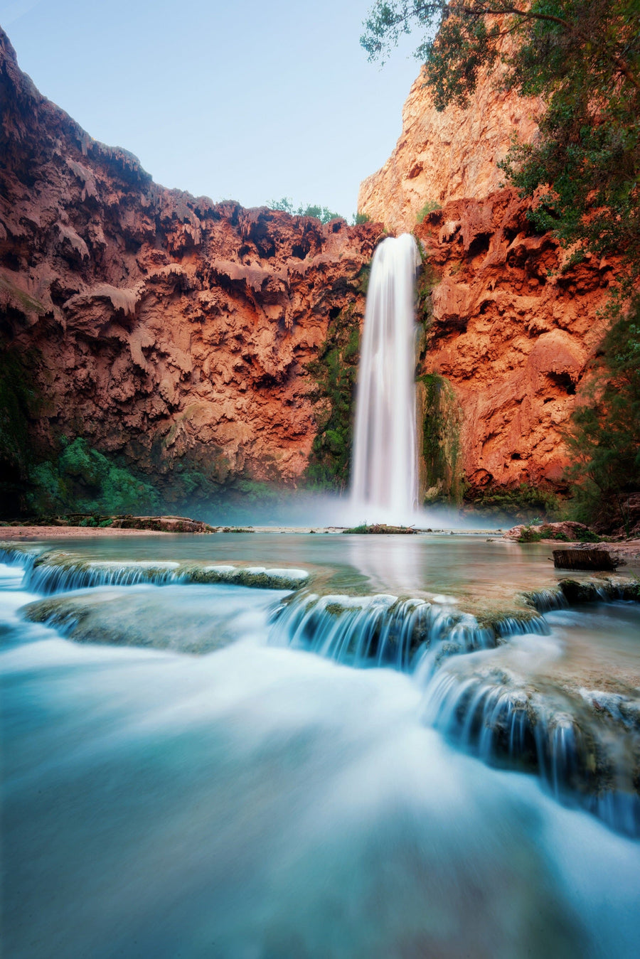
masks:
<path id="1" fill-rule="evenodd" d="M 425 503 L 462 503 L 464 484 L 460 450 L 462 409 L 443 376 L 427 373 L 417 380 L 422 408 L 422 459 L 426 471 Z"/>

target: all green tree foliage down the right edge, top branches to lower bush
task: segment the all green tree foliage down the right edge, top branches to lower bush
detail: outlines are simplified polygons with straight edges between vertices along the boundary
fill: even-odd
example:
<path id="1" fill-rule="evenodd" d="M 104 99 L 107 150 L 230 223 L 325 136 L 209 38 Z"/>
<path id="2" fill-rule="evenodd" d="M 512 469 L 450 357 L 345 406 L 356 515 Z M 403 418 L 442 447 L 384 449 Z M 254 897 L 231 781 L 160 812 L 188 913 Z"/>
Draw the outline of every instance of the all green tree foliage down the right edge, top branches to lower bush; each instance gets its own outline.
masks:
<path id="1" fill-rule="evenodd" d="M 377 0 L 361 42 L 379 58 L 412 29 L 437 109 L 464 107 L 481 71 L 498 66 L 504 86 L 544 98 L 539 135 L 514 143 L 503 169 L 532 199 L 536 231 L 571 248 L 569 265 L 586 252 L 622 257 L 603 361 L 568 443 L 576 518 L 629 529 L 628 498 L 640 491 L 640 4 Z"/>

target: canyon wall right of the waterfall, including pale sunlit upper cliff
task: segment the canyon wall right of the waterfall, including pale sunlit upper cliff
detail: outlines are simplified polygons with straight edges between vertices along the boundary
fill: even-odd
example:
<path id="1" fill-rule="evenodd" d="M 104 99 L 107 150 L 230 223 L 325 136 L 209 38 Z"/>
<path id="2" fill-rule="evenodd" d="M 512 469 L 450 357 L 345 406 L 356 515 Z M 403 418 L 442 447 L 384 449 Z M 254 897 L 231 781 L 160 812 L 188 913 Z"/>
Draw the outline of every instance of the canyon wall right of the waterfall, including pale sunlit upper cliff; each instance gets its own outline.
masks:
<path id="1" fill-rule="evenodd" d="M 534 232 L 528 201 L 504 187 L 497 164 L 514 135 L 532 140 L 544 105 L 506 90 L 503 69 L 481 77 L 466 109 L 443 112 L 418 77 L 397 145 L 358 202 L 422 244 L 418 372 L 432 386 L 427 417 L 450 419 L 425 422 L 424 483 L 435 497 L 442 487 L 473 498 L 520 483 L 566 486 L 562 433 L 603 339 L 600 311 L 615 279 L 616 264 L 593 257 L 567 269 L 553 236 Z M 417 222 L 425 204 L 433 212 Z M 439 404 L 438 384 L 448 397 L 440 389 Z"/>

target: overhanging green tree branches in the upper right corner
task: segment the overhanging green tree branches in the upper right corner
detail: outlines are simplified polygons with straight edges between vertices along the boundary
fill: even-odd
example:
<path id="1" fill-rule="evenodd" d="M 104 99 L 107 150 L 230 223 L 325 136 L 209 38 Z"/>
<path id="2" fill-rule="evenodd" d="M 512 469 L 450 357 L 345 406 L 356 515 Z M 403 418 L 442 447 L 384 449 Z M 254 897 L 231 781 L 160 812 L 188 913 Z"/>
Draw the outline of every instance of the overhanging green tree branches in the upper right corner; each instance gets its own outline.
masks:
<path id="1" fill-rule="evenodd" d="M 516 145 L 505 168 L 541 230 L 599 253 L 640 248 L 640 3 L 638 0 L 378 0 L 361 42 L 386 55 L 418 29 L 437 109 L 466 105 L 481 71 L 506 65 L 504 83 L 541 95 L 535 143 Z M 506 57 L 504 37 L 512 35 Z"/>

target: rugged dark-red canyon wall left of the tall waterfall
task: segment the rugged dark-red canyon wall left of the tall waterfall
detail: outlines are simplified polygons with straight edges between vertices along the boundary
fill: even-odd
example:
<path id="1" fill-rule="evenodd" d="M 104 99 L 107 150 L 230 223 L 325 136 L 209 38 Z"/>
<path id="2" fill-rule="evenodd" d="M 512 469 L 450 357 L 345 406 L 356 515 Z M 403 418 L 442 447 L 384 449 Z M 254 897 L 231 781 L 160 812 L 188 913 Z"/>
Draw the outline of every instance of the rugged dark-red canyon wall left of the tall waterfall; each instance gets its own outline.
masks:
<path id="1" fill-rule="evenodd" d="M 82 435 L 154 477 L 295 484 L 328 415 L 307 364 L 345 308 L 360 321 L 380 227 L 156 185 L 42 97 L 1 32 L 0 97 L 3 349 L 39 395 L 40 453 Z"/>

